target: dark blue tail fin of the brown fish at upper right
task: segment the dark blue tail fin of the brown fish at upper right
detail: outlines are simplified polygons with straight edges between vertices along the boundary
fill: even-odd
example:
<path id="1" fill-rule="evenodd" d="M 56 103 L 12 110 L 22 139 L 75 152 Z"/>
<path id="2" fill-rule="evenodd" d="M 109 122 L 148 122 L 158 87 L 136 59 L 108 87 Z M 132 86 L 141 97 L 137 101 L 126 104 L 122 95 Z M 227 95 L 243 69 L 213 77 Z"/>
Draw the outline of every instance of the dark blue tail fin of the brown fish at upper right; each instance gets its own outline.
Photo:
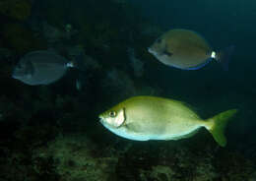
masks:
<path id="1" fill-rule="evenodd" d="M 224 71 L 228 71 L 228 63 L 230 57 L 234 51 L 234 45 L 226 47 L 224 50 L 217 53 L 217 60 L 220 61 L 223 65 Z"/>

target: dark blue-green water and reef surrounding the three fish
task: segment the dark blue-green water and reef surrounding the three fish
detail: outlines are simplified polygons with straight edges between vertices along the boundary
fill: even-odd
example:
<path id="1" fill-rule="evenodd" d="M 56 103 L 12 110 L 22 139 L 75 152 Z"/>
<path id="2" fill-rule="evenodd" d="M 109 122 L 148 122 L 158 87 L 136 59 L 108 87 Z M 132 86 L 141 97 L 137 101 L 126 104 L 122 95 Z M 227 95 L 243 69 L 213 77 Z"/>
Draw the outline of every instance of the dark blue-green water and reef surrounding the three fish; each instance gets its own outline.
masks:
<path id="1" fill-rule="evenodd" d="M 252 0 L 1 0 L 0 181 L 256 180 L 255 17 Z M 217 50 L 235 45 L 229 70 L 161 64 L 148 47 L 166 30 L 195 30 Z M 12 78 L 34 50 L 85 54 L 47 86 Z M 79 80 L 79 84 L 77 82 Z M 205 129 L 179 141 L 120 138 L 98 114 L 134 95 L 184 101 L 202 118 L 238 114 L 220 148 Z"/>

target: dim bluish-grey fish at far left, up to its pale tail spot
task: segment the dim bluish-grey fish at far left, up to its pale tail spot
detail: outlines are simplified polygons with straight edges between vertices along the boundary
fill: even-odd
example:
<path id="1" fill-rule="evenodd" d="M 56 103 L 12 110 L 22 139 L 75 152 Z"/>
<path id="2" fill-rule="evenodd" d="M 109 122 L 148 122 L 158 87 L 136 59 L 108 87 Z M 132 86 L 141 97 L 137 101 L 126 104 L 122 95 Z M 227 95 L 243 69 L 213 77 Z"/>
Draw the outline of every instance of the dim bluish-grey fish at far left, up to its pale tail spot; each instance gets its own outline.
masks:
<path id="1" fill-rule="evenodd" d="M 16 65 L 12 77 L 31 86 L 49 85 L 61 79 L 74 63 L 53 51 L 26 54 Z"/>

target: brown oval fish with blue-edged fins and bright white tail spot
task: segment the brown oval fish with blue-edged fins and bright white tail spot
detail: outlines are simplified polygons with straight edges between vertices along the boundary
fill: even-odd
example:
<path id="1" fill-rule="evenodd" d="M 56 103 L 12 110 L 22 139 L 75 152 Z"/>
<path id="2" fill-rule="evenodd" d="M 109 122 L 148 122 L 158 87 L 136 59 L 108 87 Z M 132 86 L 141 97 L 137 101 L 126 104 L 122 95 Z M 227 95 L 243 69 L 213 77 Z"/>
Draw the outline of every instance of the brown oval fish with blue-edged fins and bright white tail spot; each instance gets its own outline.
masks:
<path id="1" fill-rule="evenodd" d="M 174 29 L 164 32 L 148 48 L 161 63 L 182 69 L 198 70 L 212 60 L 217 60 L 228 70 L 230 55 L 234 46 L 214 51 L 207 40 L 193 30 Z"/>

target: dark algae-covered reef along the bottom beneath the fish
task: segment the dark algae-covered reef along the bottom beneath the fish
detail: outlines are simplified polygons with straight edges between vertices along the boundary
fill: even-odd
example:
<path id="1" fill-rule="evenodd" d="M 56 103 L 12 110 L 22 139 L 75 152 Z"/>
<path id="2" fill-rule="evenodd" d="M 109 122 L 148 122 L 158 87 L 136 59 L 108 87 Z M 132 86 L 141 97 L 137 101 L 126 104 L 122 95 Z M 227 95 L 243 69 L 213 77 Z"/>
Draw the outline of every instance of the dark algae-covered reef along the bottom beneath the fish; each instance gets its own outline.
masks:
<path id="1" fill-rule="evenodd" d="M 216 181 L 255 179 L 255 165 L 239 153 L 188 142 L 95 142 L 88 134 L 61 134 L 33 124 L 15 131 L 13 147 L 1 143 L 0 177 L 29 181 Z M 104 143 L 106 142 L 106 143 Z M 212 142 L 214 143 L 214 142 Z M 11 143 L 9 143 L 11 144 Z M 10 174 L 10 173 L 13 174 Z"/>

